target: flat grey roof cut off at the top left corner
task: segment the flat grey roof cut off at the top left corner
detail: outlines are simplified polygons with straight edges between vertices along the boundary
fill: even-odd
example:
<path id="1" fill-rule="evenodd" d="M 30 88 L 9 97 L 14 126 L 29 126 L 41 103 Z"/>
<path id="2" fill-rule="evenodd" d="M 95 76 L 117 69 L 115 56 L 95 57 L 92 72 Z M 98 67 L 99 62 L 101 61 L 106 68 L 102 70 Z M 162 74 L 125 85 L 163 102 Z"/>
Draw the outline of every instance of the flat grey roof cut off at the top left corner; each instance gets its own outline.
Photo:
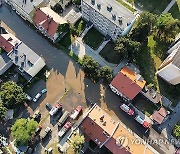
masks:
<path id="1" fill-rule="evenodd" d="M 44 0 L 13 0 L 12 2 L 30 14 L 36 7 L 39 6 Z"/>

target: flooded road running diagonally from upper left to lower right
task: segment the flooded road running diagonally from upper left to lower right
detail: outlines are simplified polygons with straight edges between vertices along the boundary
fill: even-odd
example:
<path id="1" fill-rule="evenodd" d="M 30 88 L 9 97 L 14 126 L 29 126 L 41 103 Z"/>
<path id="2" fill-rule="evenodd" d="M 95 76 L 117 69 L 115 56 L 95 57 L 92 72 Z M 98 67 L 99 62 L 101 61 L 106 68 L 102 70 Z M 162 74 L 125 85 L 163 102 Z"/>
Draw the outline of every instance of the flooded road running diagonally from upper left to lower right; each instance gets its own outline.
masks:
<path id="1" fill-rule="evenodd" d="M 56 49 L 44 37 L 39 35 L 34 28 L 30 27 L 28 23 L 24 22 L 9 6 L 0 8 L 0 19 L 3 20 L 15 33 L 16 36 L 22 40 L 26 45 L 32 48 L 37 54 L 42 55 L 47 66 L 54 69 L 66 78 L 66 82 L 72 84 L 72 88 L 76 88 L 75 82 L 83 82 L 81 90 L 85 93 L 86 98 L 97 102 L 102 108 L 106 106 L 107 112 L 115 112 L 120 120 L 125 123 L 130 129 L 137 133 L 140 137 L 144 136 L 142 126 L 138 125 L 133 119 L 129 118 L 125 113 L 119 110 L 119 97 L 114 95 L 108 88 L 105 90 L 104 104 L 100 104 L 100 84 L 93 84 L 89 79 L 81 75 L 81 69 L 76 62 L 68 57 L 63 51 Z M 69 70 L 70 65 L 74 71 Z M 80 80 L 72 80 L 76 73 L 80 74 Z M 68 74 L 68 76 L 67 76 Z M 80 83 L 81 84 L 81 83 Z M 74 86 L 74 87 L 73 87 Z M 79 91 L 81 93 L 81 91 Z M 154 133 L 153 133 L 154 134 Z M 156 135 L 155 135 L 156 136 Z M 158 138 L 158 136 L 156 136 Z M 157 148 L 158 149 L 158 148 Z M 163 149 L 169 152 L 168 149 Z M 163 153 L 163 152 L 162 152 Z M 169 153 L 172 153 L 169 152 Z"/>

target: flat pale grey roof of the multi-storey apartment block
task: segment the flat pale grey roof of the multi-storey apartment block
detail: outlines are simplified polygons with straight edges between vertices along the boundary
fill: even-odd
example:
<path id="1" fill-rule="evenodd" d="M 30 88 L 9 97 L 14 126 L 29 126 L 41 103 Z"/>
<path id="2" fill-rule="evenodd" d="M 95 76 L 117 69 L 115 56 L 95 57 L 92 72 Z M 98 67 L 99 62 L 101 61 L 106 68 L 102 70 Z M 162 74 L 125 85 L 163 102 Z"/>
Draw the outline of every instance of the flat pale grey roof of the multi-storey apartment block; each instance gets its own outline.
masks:
<path id="1" fill-rule="evenodd" d="M 135 15 L 115 0 L 83 0 L 117 26 L 125 29 Z"/>

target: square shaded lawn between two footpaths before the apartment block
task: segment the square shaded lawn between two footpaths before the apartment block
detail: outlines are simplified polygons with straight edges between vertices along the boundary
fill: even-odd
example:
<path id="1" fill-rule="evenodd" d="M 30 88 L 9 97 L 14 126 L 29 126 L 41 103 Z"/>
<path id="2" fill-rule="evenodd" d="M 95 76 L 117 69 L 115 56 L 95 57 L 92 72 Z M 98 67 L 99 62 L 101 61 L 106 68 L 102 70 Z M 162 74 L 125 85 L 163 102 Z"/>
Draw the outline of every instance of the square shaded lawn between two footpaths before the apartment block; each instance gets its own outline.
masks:
<path id="1" fill-rule="evenodd" d="M 83 38 L 84 43 L 96 50 L 100 43 L 103 41 L 104 35 L 97 31 L 95 28 L 91 28 Z"/>

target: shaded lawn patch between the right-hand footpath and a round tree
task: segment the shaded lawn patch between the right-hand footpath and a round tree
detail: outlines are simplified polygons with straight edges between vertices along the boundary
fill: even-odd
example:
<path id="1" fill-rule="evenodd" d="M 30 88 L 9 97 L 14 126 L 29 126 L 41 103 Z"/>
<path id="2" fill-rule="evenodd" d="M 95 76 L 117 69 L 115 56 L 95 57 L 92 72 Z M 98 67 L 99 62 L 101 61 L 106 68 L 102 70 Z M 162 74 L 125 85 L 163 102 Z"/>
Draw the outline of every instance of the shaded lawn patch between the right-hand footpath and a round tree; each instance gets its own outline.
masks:
<path id="1" fill-rule="evenodd" d="M 109 42 L 99 53 L 106 61 L 119 64 L 121 57 L 114 51 L 115 43 Z"/>

